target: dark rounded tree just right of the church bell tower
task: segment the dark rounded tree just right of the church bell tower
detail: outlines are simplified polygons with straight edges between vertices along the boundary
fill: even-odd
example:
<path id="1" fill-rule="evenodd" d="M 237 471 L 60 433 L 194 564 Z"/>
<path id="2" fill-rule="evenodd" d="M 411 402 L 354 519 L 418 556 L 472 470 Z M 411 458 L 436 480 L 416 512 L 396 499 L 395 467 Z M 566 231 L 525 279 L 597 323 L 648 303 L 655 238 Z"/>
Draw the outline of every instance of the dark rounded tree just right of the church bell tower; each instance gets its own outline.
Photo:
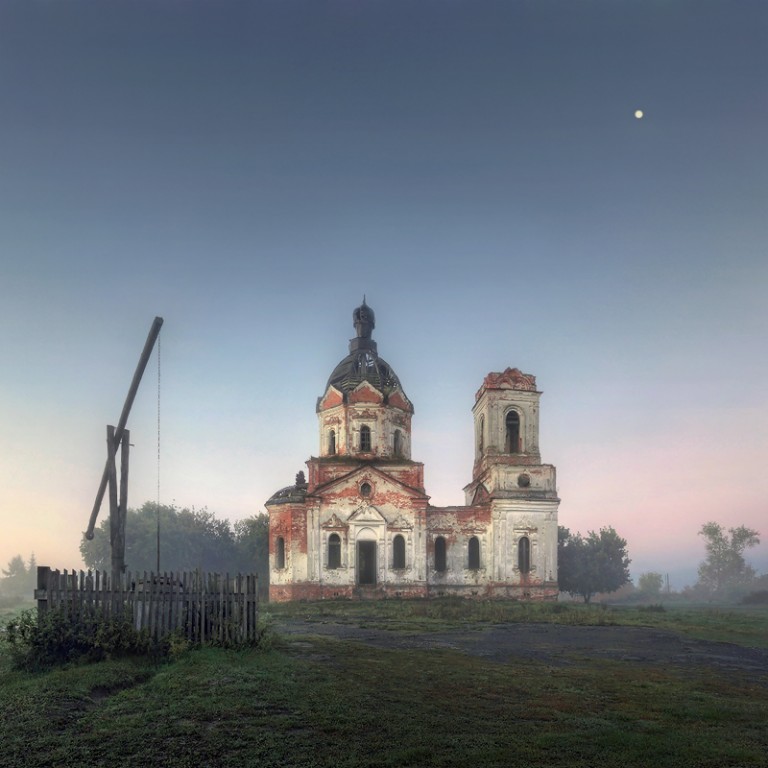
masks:
<path id="1" fill-rule="evenodd" d="M 627 542 L 611 527 L 583 537 L 559 526 L 557 551 L 560 589 L 581 595 L 585 603 L 595 593 L 613 592 L 630 580 Z"/>

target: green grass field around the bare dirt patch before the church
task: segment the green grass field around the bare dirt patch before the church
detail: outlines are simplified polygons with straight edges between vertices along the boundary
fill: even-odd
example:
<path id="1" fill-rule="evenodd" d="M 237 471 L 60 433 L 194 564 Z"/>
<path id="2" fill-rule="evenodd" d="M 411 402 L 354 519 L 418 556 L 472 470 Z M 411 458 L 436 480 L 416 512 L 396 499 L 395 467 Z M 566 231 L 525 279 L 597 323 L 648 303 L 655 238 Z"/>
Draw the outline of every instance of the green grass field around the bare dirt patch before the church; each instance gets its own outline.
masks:
<path id="1" fill-rule="evenodd" d="M 270 607 L 430 632 L 642 624 L 766 647 L 768 611 L 438 603 Z M 315 634 L 30 674 L 0 654 L 5 766 L 762 766 L 768 678 L 583 659 L 498 663 Z"/>

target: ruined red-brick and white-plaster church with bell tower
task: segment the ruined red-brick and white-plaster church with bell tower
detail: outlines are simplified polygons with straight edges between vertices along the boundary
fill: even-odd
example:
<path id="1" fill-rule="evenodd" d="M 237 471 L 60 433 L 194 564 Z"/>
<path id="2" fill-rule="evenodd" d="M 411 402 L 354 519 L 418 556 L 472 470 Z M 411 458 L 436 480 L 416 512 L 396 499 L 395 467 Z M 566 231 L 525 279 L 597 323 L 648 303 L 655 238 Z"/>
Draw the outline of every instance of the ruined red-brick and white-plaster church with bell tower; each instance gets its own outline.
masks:
<path id="1" fill-rule="evenodd" d="M 560 500 L 541 463 L 535 377 L 485 377 L 465 505 L 435 507 L 411 458 L 413 405 L 379 357 L 365 300 L 353 320 L 317 401 L 318 455 L 266 502 L 270 600 L 555 599 Z"/>

